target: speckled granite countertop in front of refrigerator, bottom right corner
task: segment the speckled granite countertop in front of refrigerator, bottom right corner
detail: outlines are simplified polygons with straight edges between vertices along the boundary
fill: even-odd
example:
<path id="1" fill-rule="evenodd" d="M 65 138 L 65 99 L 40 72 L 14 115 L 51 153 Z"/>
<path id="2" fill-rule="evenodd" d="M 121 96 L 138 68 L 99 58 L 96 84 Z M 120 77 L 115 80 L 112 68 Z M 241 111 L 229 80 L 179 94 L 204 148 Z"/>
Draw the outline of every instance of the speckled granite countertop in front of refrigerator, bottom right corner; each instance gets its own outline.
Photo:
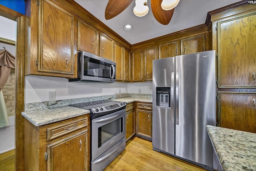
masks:
<path id="1" fill-rule="evenodd" d="M 256 170 L 256 133 L 206 126 L 224 171 Z"/>

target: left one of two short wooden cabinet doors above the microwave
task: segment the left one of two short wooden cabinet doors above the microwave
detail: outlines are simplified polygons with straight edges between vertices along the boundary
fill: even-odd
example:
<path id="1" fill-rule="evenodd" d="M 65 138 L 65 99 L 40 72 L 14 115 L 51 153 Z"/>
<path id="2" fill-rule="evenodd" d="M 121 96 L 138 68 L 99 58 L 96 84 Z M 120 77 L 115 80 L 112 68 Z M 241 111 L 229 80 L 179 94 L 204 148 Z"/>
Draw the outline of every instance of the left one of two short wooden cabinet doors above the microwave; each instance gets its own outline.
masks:
<path id="1" fill-rule="evenodd" d="M 97 30 L 85 22 L 78 20 L 78 50 L 98 53 Z"/>

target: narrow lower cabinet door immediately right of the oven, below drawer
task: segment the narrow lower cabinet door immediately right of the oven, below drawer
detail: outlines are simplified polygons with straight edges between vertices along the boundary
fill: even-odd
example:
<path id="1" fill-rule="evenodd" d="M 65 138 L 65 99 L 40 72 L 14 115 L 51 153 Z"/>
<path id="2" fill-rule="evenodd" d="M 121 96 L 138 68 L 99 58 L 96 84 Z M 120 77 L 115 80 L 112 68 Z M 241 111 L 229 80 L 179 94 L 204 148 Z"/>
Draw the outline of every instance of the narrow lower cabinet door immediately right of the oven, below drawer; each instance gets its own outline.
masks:
<path id="1" fill-rule="evenodd" d="M 130 110 L 126 113 L 126 141 L 135 134 L 135 111 Z"/>

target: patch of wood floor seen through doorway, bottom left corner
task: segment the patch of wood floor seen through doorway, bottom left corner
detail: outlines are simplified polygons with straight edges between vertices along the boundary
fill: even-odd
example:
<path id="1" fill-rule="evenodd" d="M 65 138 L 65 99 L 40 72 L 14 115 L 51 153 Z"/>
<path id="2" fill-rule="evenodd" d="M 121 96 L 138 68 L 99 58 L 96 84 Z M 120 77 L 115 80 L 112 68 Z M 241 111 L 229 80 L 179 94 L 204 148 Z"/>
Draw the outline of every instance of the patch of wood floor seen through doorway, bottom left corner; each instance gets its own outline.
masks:
<path id="1" fill-rule="evenodd" d="M 14 171 L 15 151 L 0 154 L 0 171 Z"/>

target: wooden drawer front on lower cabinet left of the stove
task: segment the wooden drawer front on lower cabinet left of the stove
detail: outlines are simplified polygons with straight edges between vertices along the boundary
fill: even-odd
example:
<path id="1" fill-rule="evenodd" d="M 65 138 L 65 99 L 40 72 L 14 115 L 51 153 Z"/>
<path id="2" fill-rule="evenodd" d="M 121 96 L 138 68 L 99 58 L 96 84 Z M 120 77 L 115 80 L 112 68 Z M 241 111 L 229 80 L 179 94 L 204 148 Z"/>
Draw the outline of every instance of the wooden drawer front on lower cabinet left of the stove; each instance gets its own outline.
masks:
<path id="1" fill-rule="evenodd" d="M 88 126 L 87 118 L 71 121 L 61 125 L 55 125 L 47 129 L 47 141 L 68 134 L 72 131 L 76 131 L 86 126 Z"/>

